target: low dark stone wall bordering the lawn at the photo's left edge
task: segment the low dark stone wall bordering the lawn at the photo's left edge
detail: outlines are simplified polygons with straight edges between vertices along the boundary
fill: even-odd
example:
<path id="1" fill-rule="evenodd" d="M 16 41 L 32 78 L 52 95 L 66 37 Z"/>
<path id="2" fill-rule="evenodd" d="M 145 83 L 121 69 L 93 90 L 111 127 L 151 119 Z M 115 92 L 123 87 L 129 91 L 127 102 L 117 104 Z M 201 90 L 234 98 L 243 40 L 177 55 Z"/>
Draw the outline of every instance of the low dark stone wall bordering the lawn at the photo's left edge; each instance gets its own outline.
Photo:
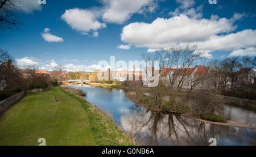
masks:
<path id="1" fill-rule="evenodd" d="M 6 111 L 12 104 L 16 103 L 23 95 L 24 91 L 19 92 L 13 96 L 6 98 L 5 100 L 0 101 L 0 113 Z"/>

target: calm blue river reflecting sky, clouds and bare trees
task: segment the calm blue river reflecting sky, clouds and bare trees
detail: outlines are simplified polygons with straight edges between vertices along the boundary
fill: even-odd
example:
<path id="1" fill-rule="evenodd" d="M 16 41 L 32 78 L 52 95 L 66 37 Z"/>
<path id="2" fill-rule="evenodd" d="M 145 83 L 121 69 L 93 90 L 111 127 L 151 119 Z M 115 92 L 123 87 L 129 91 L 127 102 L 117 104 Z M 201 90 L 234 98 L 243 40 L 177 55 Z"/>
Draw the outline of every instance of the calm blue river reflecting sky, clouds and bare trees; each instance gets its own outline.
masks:
<path id="1" fill-rule="evenodd" d="M 90 86 L 72 86 L 86 91 L 93 105 L 110 113 L 115 124 L 137 137 L 143 145 L 256 145 L 256 130 L 213 125 L 175 114 L 151 113 L 137 107 L 125 96 L 125 91 Z M 236 107 L 225 107 L 225 118 L 256 126 L 256 113 Z"/>

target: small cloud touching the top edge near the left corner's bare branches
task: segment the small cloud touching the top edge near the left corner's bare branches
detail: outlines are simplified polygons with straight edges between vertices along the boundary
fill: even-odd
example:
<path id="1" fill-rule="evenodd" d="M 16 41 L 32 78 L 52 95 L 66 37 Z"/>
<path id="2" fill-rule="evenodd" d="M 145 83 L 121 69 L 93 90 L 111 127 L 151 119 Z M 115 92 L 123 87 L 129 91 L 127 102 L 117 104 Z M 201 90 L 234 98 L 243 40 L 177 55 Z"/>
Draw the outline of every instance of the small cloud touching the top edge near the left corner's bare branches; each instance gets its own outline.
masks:
<path id="1" fill-rule="evenodd" d="M 37 0 L 14 0 L 16 9 L 26 13 L 32 13 L 34 10 L 41 11 L 42 6 L 39 5 Z"/>

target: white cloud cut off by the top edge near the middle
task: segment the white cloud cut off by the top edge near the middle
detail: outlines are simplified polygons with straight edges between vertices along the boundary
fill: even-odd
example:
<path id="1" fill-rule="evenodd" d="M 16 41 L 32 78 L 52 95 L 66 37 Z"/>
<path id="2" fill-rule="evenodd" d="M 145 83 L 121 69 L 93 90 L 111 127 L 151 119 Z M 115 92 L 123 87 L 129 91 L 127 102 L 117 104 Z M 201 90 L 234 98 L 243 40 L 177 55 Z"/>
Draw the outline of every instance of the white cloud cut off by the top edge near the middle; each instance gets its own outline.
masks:
<path id="1" fill-rule="evenodd" d="M 155 0 L 104 0 L 105 9 L 102 19 L 109 23 L 122 24 L 131 18 L 135 12 L 144 10 L 153 12 L 156 8 Z M 145 7 L 148 7 L 145 9 Z"/>

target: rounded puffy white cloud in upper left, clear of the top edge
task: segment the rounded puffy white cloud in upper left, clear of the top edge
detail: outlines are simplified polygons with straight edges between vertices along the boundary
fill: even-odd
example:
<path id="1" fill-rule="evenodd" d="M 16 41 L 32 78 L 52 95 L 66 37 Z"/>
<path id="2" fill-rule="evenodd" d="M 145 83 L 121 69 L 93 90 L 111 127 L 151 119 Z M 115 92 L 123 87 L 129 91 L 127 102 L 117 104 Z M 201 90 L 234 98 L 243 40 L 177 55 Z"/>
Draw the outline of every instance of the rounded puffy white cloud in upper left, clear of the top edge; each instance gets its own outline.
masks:
<path id="1" fill-rule="evenodd" d="M 106 27 L 105 23 L 98 22 L 96 18 L 93 12 L 85 9 L 69 9 L 61 15 L 61 19 L 82 35 L 88 35 L 89 31 L 97 31 L 97 29 Z"/>

